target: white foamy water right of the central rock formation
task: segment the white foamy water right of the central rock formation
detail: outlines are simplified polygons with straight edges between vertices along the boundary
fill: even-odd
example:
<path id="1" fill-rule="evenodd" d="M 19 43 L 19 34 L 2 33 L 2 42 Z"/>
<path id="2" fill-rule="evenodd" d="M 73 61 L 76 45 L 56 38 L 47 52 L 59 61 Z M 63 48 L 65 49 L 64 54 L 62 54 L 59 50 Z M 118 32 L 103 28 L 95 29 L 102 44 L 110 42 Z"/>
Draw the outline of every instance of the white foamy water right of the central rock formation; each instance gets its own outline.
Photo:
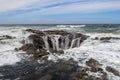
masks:
<path id="1" fill-rule="evenodd" d="M 100 35 L 100 34 L 99 34 Z M 107 35 L 107 34 L 106 34 Z M 80 47 L 65 50 L 64 54 L 50 54 L 49 60 L 57 61 L 58 59 L 69 60 L 73 58 L 80 66 L 86 66 L 85 62 L 90 58 L 98 60 L 103 64 L 102 68 L 105 70 L 106 66 L 111 66 L 120 72 L 120 40 L 110 40 L 110 42 L 102 42 L 94 40 L 93 35 L 84 41 Z M 98 35 L 94 35 L 97 37 Z M 109 35 L 109 37 L 114 37 Z M 73 41 L 74 42 L 74 41 Z M 108 73 L 109 80 L 120 80 L 120 77 Z M 93 73 L 90 73 L 92 75 Z"/>

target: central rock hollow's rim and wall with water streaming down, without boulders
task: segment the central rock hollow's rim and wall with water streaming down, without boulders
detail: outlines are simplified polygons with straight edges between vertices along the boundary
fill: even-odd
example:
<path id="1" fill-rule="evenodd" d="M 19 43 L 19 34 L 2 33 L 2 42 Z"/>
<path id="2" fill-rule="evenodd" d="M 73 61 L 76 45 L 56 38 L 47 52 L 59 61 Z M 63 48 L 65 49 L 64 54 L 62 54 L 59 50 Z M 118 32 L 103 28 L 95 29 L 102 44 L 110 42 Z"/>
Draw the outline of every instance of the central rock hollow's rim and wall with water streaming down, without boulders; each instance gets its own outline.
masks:
<path id="1" fill-rule="evenodd" d="M 29 36 L 35 46 L 40 48 L 61 50 L 79 47 L 88 36 L 80 33 L 69 33 L 63 30 L 38 31 L 28 29 L 26 31 L 34 33 Z M 39 44 L 39 45 L 38 45 Z"/>

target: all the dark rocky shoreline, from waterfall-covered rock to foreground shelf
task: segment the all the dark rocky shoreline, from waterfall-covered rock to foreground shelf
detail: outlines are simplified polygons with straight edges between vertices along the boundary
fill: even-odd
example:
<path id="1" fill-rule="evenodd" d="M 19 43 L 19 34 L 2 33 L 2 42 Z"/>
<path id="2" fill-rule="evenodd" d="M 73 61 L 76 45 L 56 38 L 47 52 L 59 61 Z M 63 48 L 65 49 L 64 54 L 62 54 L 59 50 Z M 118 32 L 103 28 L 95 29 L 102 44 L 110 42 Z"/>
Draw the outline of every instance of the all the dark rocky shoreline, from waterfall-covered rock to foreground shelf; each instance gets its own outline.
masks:
<path id="1" fill-rule="evenodd" d="M 85 66 L 78 65 L 73 59 L 58 59 L 56 62 L 48 60 L 51 53 L 62 55 L 64 50 L 80 47 L 89 36 L 81 33 L 70 33 L 63 30 L 39 31 L 27 29 L 25 32 L 31 33 L 28 36 L 29 43 L 22 40 L 23 46 L 15 48 L 15 51 L 24 51 L 27 55 L 33 55 L 33 60 L 17 63 L 12 66 L 0 67 L 0 72 L 4 76 L 0 79 L 11 80 L 111 80 L 108 73 L 120 77 L 119 71 L 112 66 L 106 66 L 93 58 L 85 61 Z M 11 36 L 1 36 L 0 40 L 14 39 Z M 119 39 L 115 37 L 97 37 L 94 40 L 108 41 Z M 104 56 L 104 55 L 103 55 Z M 43 63 L 37 62 L 42 60 Z M 4 70 L 3 70 L 4 68 Z"/>

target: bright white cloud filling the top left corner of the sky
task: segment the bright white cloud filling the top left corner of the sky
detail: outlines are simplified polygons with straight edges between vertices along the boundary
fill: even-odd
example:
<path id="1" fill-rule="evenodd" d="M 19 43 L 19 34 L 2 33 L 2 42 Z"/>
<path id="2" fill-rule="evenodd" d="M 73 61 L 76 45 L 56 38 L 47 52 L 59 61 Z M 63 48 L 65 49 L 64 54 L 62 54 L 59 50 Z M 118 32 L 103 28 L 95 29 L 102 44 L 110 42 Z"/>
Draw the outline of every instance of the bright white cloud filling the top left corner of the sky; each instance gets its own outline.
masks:
<path id="1" fill-rule="evenodd" d="M 19 10 L 37 1 L 38 0 L 0 0 L 0 12 Z"/>

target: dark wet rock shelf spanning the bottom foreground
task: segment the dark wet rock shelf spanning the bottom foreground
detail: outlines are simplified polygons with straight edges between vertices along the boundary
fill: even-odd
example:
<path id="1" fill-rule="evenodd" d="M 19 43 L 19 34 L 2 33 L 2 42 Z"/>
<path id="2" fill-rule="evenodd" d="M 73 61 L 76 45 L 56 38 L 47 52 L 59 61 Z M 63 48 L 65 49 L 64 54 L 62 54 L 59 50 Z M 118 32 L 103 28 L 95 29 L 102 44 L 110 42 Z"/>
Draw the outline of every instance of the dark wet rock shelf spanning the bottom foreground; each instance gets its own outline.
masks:
<path id="1" fill-rule="evenodd" d="M 90 75 L 88 73 L 90 68 L 78 66 L 78 63 L 72 59 L 44 63 L 28 61 L 3 67 L 0 67 L 0 73 L 3 75 L 0 79 L 3 80 L 108 80 L 104 71 L 101 72 L 100 77 Z"/>

